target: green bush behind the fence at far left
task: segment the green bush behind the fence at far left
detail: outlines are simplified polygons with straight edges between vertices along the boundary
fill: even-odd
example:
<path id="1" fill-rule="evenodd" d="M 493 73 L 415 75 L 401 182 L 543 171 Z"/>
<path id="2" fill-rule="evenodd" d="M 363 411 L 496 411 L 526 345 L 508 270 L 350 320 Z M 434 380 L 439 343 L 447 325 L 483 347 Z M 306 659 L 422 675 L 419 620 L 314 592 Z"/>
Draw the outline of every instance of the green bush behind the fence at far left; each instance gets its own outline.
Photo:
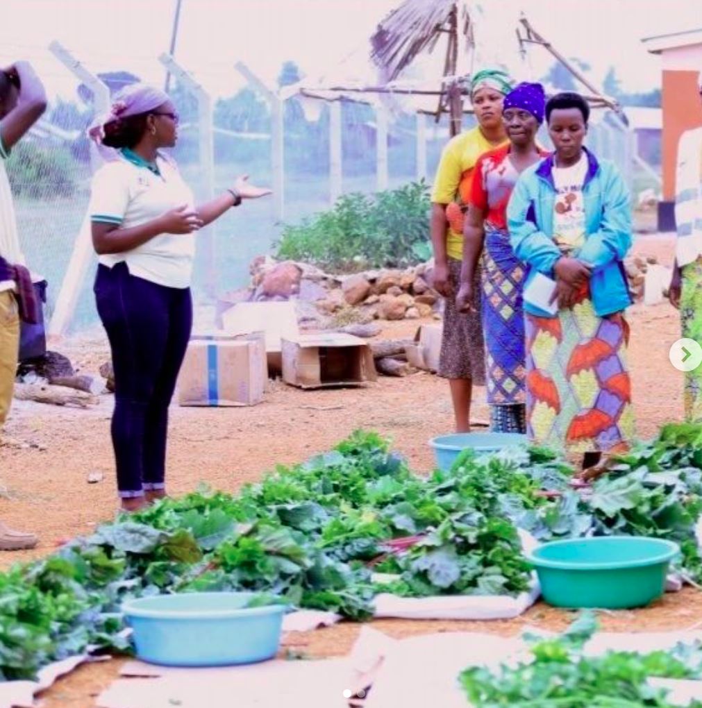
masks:
<path id="1" fill-rule="evenodd" d="M 82 169 L 69 149 L 30 141 L 18 142 L 7 161 L 13 193 L 34 199 L 72 197 Z"/>

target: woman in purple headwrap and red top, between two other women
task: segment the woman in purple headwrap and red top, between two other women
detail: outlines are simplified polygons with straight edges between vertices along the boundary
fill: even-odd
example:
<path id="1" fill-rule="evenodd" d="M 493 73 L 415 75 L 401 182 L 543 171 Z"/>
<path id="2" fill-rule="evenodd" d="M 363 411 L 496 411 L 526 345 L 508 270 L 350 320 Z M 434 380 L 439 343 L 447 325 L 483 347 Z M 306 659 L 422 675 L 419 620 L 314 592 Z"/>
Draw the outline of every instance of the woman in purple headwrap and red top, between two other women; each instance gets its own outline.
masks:
<path id="1" fill-rule="evenodd" d="M 463 228 L 463 269 L 456 304 L 461 312 L 472 307 L 472 283 L 482 254 L 487 401 L 495 433 L 526 433 L 525 272 L 509 245 L 506 209 L 520 173 L 547 154 L 536 144 L 544 106 L 541 84 L 519 84 L 504 97 L 502 120 L 509 144 L 485 153 L 475 164 Z"/>

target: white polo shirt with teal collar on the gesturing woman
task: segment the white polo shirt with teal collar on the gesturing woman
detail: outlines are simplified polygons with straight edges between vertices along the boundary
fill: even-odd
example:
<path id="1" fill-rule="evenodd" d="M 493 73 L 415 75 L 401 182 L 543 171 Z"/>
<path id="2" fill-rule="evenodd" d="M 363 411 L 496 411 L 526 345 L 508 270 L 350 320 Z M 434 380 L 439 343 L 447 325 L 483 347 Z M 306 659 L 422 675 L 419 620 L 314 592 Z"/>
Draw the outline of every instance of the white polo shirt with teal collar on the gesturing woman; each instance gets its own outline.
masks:
<path id="1" fill-rule="evenodd" d="M 159 155 L 155 167 L 130 150 L 108 162 L 92 182 L 91 222 L 123 229 L 145 224 L 183 204 L 193 208 L 193 192 L 178 168 Z M 108 268 L 125 262 L 131 275 L 166 287 L 190 287 L 196 234 L 159 234 L 124 253 L 107 253 L 98 261 Z"/>

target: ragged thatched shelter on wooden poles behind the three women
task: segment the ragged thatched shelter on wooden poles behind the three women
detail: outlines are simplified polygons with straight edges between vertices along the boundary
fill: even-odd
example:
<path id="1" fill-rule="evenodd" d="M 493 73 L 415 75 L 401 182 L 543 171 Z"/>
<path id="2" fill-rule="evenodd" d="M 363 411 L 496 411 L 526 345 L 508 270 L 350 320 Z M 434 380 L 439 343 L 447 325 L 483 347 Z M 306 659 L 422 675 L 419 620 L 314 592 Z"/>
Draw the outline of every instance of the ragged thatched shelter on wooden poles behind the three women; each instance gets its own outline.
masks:
<path id="1" fill-rule="evenodd" d="M 513 38 L 512 42 L 516 40 L 515 58 L 519 52 L 524 59 L 529 46 L 540 45 L 587 88 L 584 98 L 594 108 L 616 110 L 616 101 L 598 91 L 586 76 L 536 32 L 526 17 L 517 19 L 515 16 L 512 25 L 504 13 L 499 13 L 499 16 L 500 21 L 506 23 L 505 40 L 508 36 Z M 302 98 L 321 101 L 372 104 L 382 101 L 393 112 L 411 110 L 428 113 L 434 115 L 437 122 L 448 113 L 451 116 L 450 132 L 455 135 L 461 130 L 463 115 L 472 113 L 468 79 L 473 71 L 473 62 L 485 61 L 485 57 L 481 56 L 480 42 L 475 40 L 476 25 L 483 34 L 494 30 L 489 25 L 482 26 L 485 19 L 480 6 L 471 6 L 469 11 L 469 0 L 404 0 L 378 24 L 371 36 L 370 62 L 368 54 L 353 57 L 354 69 L 346 79 L 339 81 L 336 76 L 331 79 L 320 76 L 316 82 L 300 81 L 295 86 L 295 93 Z M 514 35 L 509 34 L 513 32 Z M 490 45 L 491 51 L 493 45 L 494 41 Z M 500 57 L 509 55 L 506 44 L 501 44 L 500 48 Z M 430 58 L 429 55 L 435 50 L 438 50 L 437 53 Z M 443 67 L 437 66 L 442 61 L 438 52 L 443 55 Z M 499 65 L 502 59 L 489 63 Z M 364 67 L 361 75 L 358 67 Z M 545 89 L 547 94 L 555 93 L 558 87 L 545 86 Z"/>

